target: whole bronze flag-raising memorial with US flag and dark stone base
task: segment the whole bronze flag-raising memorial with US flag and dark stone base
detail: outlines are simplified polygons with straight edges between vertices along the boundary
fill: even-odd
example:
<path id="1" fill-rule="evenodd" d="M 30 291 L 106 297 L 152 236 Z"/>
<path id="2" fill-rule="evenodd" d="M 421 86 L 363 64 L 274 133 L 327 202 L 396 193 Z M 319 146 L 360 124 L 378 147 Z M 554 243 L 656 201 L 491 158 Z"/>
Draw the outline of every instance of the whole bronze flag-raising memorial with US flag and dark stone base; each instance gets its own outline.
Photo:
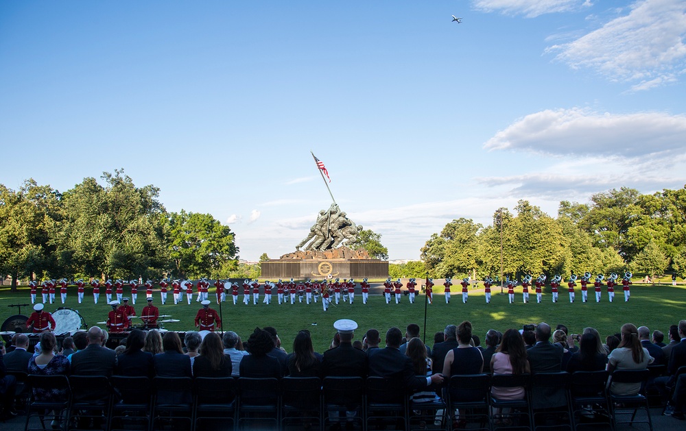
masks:
<path id="1" fill-rule="evenodd" d="M 314 154 L 312 154 L 314 157 Z M 314 157 L 317 168 L 329 177 L 327 169 Z M 331 181 L 331 180 L 329 180 Z M 362 226 L 348 219 L 336 204 L 331 189 L 329 195 L 333 204 L 329 210 L 321 210 L 316 223 L 310 227 L 309 234 L 296 245 L 294 253 L 284 254 L 279 259 L 262 262 L 262 278 L 296 280 L 323 278 L 386 278 L 388 261 L 371 259 L 365 249 L 353 250 L 346 244 L 355 243 Z M 301 250 L 302 249 L 302 250 Z M 361 281 L 361 280 L 360 280 Z"/>

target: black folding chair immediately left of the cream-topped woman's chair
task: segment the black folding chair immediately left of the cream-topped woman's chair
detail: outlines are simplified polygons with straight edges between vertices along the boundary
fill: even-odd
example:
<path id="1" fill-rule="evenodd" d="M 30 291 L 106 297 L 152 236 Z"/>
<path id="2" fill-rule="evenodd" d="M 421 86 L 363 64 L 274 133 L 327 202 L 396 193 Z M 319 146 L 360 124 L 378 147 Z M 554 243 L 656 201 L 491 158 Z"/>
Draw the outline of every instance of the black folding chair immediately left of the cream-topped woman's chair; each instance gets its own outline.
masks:
<path id="1" fill-rule="evenodd" d="M 570 391 L 575 430 L 600 425 L 614 430 L 607 397 L 607 371 L 576 371 L 571 375 Z"/>

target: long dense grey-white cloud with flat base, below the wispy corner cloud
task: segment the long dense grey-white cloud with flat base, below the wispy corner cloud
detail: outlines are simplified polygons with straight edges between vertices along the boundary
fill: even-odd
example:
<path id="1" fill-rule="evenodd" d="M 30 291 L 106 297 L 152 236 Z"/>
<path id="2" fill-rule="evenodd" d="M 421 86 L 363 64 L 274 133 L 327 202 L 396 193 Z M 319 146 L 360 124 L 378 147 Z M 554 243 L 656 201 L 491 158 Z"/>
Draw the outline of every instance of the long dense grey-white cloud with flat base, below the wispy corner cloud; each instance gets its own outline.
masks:
<path id="1" fill-rule="evenodd" d="M 665 157 L 686 151 L 686 116 L 598 114 L 580 108 L 544 110 L 497 132 L 484 148 L 552 155 Z"/>

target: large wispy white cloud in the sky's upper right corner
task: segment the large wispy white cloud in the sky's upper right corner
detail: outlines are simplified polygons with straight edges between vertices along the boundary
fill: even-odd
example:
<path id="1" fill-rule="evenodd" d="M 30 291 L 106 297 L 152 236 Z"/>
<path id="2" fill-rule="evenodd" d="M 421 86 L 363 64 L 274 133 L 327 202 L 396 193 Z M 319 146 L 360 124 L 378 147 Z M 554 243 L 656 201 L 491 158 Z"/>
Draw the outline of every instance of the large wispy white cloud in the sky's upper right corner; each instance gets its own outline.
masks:
<path id="1" fill-rule="evenodd" d="M 639 81 L 632 89 L 646 90 L 683 73 L 685 37 L 685 1 L 644 0 L 630 5 L 628 15 L 546 51 L 559 51 L 556 59 L 573 69 L 595 69 L 611 81 Z"/>

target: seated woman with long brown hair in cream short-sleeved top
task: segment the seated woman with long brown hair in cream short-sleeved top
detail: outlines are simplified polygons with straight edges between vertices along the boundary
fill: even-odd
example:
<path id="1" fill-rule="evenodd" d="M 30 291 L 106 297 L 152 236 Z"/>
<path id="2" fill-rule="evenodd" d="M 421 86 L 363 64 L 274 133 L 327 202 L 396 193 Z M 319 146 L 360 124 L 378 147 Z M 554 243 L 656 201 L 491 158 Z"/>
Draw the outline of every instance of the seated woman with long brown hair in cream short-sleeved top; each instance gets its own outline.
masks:
<path id="1" fill-rule="evenodd" d="M 652 356 L 639 341 L 638 330 L 631 323 L 622 325 L 622 342 L 608 356 L 607 371 L 623 369 L 646 369 L 652 363 Z M 610 386 L 616 395 L 635 395 L 641 390 L 640 383 L 615 383 Z"/>

